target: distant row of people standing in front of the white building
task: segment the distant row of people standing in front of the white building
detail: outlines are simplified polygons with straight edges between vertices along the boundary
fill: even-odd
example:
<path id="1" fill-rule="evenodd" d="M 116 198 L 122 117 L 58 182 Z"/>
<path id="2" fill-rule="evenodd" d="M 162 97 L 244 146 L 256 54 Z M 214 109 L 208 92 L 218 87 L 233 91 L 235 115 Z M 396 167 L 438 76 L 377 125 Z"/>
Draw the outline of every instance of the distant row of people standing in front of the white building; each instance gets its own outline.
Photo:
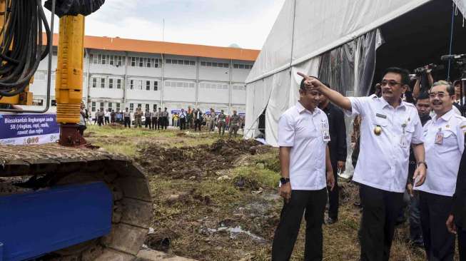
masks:
<path id="1" fill-rule="evenodd" d="M 89 116 L 83 103 L 81 103 L 81 114 L 83 126 L 85 126 Z M 201 131 L 201 128 L 205 126 L 208 132 L 214 132 L 218 128 L 219 135 L 225 135 L 225 131 L 228 131 L 230 136 L 236 137 L 238 130 L 244 128 L 244 119 L 244 116 L 240 116 L 237 111 L 227 115 L 223 110 L 216 112 L 211 108 L 208 112 L 203 113 L 199 108 L 192 109 L 191 106 L 188 106 L 186 111 L 181 108 L 181 111 L 171 113 L 171 121 L 167 108 L 164 108 L 163 111 L 161 108 L 154 108 L 153 111 L 146 109 L 143 112 L 142 108 L 138 107 L 134 113 L 129 111 L 128 108 L 125 108 L 125 111 L 110 109 L 104 111 L 103 108 L 100 108 L 94 114 L 93 124 L 105 126 L 110 123 L 121 123 L 125 128 L 131 128 L 131 125 L 134 125 L 135 128 L 166 130 L 171 122 L 171 126 L 180 130 L 193 129 L 194 131 Z"/>

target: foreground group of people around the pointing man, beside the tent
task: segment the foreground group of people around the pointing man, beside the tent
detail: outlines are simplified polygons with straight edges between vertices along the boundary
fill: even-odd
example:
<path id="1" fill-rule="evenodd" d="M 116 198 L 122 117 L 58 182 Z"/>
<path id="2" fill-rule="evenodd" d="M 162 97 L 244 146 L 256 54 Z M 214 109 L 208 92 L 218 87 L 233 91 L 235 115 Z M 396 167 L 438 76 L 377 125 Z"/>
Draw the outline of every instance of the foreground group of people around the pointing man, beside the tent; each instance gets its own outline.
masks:
<path id="1" fill-rule="evenodd" d="M 429 71 L 426 81 L 410 79 L 407 70 L 388 68 L 374 94 L 345 97 L 316 77 L 298 74 L 300 99 L 278 124 L 284 204 L 272 260 L 290 259 L 303 214 L 304 260 L 323 260 L 322 225 L 338 222 L 336 174 L 346 161 L 343 113 L 356 116 L 351 158 L 362 209 L 360 260 L 389 260 L 405 205 L 410 241 L 424 248 L 427 260 L 453 260 L 455 234 L 460 260 L 466 260 L 462 81 L 434 81 Z"/>

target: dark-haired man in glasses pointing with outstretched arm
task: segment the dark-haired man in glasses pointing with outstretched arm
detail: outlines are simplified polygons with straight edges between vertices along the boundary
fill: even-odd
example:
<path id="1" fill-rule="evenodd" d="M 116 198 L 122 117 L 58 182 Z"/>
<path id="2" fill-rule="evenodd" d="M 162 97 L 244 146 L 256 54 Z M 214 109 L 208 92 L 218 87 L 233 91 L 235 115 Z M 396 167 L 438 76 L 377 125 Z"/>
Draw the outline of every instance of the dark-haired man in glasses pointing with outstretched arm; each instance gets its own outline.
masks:
<path id="1" fill-rule="evenodd" d="M 360 184 L 363 218 L 360 227 L 360 260 L 389 260 L 395 221 L 406 189 L 408 158 L 412 145 L 417 161 L 415 186 L 425 180 L 426 165 L 422 124 L 417 110 L 401 96 L 410 83 L 409 73 L 388 68 L 380 82 L 382 97 L 347 98 L 305 76 L 305 86 L 327 96 L 348 115 L 360 115 L 360 155 L 353 180 Z"/>

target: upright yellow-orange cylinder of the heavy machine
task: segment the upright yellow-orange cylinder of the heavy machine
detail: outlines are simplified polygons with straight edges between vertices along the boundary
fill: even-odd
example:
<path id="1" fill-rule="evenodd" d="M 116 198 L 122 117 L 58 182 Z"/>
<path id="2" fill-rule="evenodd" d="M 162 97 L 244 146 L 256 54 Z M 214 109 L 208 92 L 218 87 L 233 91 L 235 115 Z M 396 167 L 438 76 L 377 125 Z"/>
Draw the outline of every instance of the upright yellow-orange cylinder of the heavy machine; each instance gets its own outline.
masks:
<path id="1" fill-rule="evenodd" d="M 79 123 L 83 98 L 83 45 L 84 16 L 61 17 L 55 80 L 58 123 Z"/>

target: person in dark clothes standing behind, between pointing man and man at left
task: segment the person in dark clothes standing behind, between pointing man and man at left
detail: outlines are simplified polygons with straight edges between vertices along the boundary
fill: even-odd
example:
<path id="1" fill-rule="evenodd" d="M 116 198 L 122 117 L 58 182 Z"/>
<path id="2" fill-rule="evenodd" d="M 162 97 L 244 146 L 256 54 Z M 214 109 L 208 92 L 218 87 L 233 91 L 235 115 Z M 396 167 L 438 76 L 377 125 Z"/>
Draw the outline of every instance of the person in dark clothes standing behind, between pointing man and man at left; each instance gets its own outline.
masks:
<path id="1" fill-rule="evenodd" d="M 325 83 L 324 83 L 325 84 Z M 325 84 L 328 86 L 328 84 Z M 345 115 L 340 108 L 328 101 L 326 96 L 320 96 L 319 108 L 327 115 L 330 128 L 330 162 L 333 168 L 335 186 L 333 190 L 328 190 L 328 218 L 325 223 L 330 225 L 338 221 L 338 173 L 345 171 L 346 164 L 346 126 Z"/>

